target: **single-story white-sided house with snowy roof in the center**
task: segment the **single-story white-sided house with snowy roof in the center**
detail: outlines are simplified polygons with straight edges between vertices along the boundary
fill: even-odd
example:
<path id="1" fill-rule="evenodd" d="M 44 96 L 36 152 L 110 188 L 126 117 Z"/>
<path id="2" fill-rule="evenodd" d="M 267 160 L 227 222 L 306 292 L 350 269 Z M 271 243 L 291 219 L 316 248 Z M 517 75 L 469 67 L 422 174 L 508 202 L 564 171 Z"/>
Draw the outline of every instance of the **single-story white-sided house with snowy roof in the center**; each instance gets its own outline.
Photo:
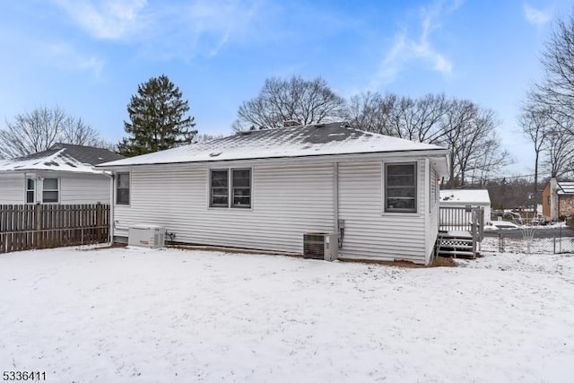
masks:
<path id="1" fill-rule="evenodd" d="M 99 165 L 113 170 L 115 239 L 160 225 L 176 242 L 301 254 L 339 233 L 339 257 L 428 265 L 448 149 L 343 123 L 240 132 Z"/>

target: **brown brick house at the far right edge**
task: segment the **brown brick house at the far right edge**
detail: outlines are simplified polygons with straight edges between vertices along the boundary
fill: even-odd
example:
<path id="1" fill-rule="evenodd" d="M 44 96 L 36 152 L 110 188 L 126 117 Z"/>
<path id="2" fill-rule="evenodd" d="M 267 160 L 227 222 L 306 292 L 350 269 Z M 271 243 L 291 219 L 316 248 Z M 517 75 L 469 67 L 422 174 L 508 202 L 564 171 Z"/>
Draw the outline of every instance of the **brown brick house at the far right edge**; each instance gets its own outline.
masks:
<path id="1" fill-rule="evenodd" d="M 551 178 L 542 191 L 542 213 L 549 221 L 574 215 L 574 182 L 558 182 Z"/>

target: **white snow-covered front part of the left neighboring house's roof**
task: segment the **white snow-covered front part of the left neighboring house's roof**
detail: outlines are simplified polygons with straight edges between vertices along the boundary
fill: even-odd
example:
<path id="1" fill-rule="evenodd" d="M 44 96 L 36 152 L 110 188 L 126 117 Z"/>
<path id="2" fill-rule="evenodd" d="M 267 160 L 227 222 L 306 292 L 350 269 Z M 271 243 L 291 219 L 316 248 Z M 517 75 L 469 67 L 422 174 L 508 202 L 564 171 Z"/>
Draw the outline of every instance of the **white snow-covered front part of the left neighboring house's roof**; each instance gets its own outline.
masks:
<path id="1" fill-rule="evenodd" d="M 4 171 L 30 171 L 52 170 L 69 171 L 74 173 L 103 173 L 95 170 L 90 164 L 85 164 L 65 155 L 65 149 L 59 150 L 46 157 L 25 160 L 0 160 L 0 172 Z"/>

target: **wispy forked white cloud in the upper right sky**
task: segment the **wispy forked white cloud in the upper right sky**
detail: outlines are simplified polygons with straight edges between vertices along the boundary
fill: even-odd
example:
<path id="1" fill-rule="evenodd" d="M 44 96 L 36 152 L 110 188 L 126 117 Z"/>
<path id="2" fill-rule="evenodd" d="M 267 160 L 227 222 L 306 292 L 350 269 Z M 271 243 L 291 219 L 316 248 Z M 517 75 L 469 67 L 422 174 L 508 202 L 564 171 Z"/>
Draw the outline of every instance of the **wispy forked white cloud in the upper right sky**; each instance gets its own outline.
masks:
<path id="1" fill-rule="evenodd" d="M 398 74 L 411 63 L 427 65 L 439 74 L 451 74 L 453 65 L 431 42 L 432 33 L 440 28 L 440 20 L 460 6 L 460 1 L 446 4 L 436 2 L 431 7 L 422 8 L 420 13 L 420 35 L 409 37 L 407 30 L 397 33 L 394 43 L 382 58 L 378 72 L 372 78 L 369 89 L 377 91 L 380 86 L 392 83 Z"/>

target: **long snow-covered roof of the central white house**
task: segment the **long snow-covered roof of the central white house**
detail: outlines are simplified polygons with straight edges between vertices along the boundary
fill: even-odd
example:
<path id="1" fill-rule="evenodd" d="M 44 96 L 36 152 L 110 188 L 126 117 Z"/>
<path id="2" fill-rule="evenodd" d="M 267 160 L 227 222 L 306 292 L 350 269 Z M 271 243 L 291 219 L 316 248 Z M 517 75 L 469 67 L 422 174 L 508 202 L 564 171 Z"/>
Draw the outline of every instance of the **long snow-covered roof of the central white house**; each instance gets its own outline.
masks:
<path id="1" fill-rule="evenodd" d="M 344 123 L 331 123 L 239 132 L 205 143 L 152 152 L 100 166 L 412 151 L 437 151 L 445 154 L 447 149 L 352 129 Z"/>

